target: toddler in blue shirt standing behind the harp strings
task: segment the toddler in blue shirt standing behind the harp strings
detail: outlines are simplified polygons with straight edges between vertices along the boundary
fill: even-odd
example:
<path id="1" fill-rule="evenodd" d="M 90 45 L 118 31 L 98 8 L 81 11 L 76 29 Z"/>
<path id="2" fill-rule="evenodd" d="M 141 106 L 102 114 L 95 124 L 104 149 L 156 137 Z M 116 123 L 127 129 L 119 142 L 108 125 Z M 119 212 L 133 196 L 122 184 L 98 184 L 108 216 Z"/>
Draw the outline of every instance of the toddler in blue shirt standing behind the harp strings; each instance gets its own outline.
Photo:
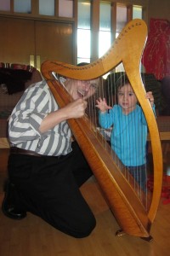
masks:
<path id="1" fill-rule="evenodd" d="M 99 98 L 96 107 L 99 108 L 99 125 L 110 128 L 111 148 L 127 170 L 139 183 L 141 189 L 146 185 L 146 140 L 147 123 L 142 108 L 139 107 L 137 97 L 129 83 L 127 76 L 118 79 L 117 84 L 118 104 L 113 108 L 107 105 L 105 98 Z M 152 92 L 146 93 L 146 98 L 155 111 Z"/>

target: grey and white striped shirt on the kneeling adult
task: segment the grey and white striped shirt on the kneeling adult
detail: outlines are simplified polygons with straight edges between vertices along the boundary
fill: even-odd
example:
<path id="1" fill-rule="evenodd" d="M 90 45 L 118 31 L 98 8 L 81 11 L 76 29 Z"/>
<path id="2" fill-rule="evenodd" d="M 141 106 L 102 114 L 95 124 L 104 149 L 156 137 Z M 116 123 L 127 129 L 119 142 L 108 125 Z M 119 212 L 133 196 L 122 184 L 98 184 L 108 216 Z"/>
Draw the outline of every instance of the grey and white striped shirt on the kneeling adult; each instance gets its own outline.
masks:
<path id="1" fill-rule="evenodd" d="M 71 152 L 71 130 L 66 121 L 41 133 L 39 126 L 48 113 L 59 109 L 46 81 L 32 84 L 11 113 L 8 137 L 12 146 L 44 155 Z"/>

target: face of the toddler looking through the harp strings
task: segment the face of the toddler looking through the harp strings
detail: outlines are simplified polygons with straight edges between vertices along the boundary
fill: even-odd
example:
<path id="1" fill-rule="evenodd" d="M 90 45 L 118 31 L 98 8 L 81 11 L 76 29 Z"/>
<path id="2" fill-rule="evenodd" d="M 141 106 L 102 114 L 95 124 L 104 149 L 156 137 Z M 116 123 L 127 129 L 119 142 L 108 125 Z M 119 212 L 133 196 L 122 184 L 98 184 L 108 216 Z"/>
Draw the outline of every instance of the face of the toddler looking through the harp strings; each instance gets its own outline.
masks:
<path id="1" fill-rule="evenodd" d="M 125 84 L 118 89 L 117 92 L 118 104 L 122 107 L 123 113 L 131 113 L 137 104 L 137 97 L 135 96 L 130 84 Z"/>

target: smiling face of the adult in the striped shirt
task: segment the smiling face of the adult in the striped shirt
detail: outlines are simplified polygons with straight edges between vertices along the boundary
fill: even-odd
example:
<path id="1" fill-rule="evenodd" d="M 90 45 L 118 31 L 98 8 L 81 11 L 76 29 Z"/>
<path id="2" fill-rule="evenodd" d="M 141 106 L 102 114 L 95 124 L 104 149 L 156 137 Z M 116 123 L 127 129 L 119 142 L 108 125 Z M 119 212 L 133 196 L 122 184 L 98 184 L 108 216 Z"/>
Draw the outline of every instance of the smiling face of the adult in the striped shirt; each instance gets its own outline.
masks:
<path id="1" fill-rule="evenodd" d="M 65 87 L 74 100 L 78 98 L 86 100 L 88 97 L 94 95 L 95 91 L 98 89 L 99 79 L 87 81 L 67 79 Z"/>

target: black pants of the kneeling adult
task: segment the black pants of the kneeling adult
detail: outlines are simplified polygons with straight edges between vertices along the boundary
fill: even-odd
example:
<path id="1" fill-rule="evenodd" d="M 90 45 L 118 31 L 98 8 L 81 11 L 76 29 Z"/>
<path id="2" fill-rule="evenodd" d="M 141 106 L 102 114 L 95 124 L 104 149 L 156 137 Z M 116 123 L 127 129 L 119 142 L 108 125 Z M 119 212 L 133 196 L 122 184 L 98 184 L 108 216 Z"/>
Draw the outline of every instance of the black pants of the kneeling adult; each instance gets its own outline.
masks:
<path id="1" fill-rule="evenodd" d="M 10 154 L 8 176 L 17 190 L 18 207 L 44 219 L 70 236 L 94 230 L 94 214 L 79 187 L 92 172 L 77 143 L 71 154 L 53 156 Z"/>

